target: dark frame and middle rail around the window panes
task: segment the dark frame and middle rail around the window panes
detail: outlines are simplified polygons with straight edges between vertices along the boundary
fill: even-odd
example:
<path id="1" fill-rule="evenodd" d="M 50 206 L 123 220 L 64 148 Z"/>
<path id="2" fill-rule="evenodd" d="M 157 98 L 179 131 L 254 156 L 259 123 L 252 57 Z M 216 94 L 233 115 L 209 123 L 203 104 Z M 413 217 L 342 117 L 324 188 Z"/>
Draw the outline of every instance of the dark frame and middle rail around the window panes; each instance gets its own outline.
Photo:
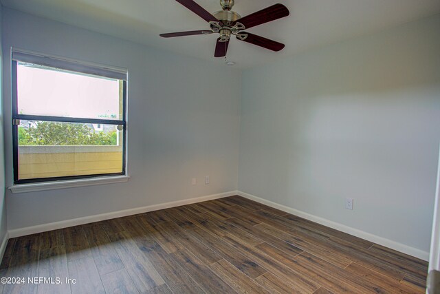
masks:
<path id="1" fill-rule="evenodd" d="M 14 169 L 14 185 L 29 184 L 35 182 L 53 182 L 58 180 L 78 180 L 84 178 L 99 178 L 108 176 L 126 176 L 126 84 L 122 80 L 122 120 L 108 120 L 95 118 L 72 118 L 63 116 L 35 116 L 27 114 L 18 114 L 18 96 L 17 96 L 17 63 L 12 61 L 12 157 Z M 41 120 L 56 121 L 60 123 L 100 123 L 102 125 L 122 125 L 122 172 L 113 174 L 91 174 L 80 176 L 60 176 L 51 178 L 32 178 L 19 180 L 19 136 L 18 125 L 14 120 Z"/>

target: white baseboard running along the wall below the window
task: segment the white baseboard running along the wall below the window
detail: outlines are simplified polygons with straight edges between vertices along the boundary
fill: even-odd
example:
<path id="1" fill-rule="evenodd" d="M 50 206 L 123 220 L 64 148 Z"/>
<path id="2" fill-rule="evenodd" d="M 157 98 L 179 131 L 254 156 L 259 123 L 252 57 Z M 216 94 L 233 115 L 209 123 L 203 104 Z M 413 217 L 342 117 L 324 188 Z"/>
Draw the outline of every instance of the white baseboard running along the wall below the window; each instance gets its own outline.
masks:
<path id="1" fill-rule="evenodd" d="M 56 229 L 63 229 L 67 227 L 78 226 L 80 224 L 89 224 L 90 222 L 100 222 L 101 220 L 110 220 L 112 218 L 122 218 L 124 216 L 133 216 L 134 214 L 144 213 L 148 211 L 155 211 L 159 209 L 167 209 L 171 207 L 178 207 L 181 205 L 203 202 L 208 200 L 219 199 L 228 196 L 237 195 L 238 191 L 230 191 L 225 193 L 213 194 L 197 198 L 190 198 L 184 200 L 177 200 L 173 202 L 166 202 L 161 204 L 148 205 L 146 207 L 136 207 L 133 209 L 125 209 L 121 211 L 113 211 L 109 213 L 102 213 L 95 216 L 85 216 L 83 218 L 74 218 L 72 220 L 62 220 L 61 222 L 51 222 L 48 224 L 39 224 L 32 227 L 25 227 L 21 229 L 12 229 L 8 231 L 9 238 L 16 238 L 22 235 L 30 235 L 33 233 L 41 233 L 45 231 L 52 231 Z M 3 241 L 4 242 L 4 241 Z M 3 245 L 2 245 L 3 248 Z"/>

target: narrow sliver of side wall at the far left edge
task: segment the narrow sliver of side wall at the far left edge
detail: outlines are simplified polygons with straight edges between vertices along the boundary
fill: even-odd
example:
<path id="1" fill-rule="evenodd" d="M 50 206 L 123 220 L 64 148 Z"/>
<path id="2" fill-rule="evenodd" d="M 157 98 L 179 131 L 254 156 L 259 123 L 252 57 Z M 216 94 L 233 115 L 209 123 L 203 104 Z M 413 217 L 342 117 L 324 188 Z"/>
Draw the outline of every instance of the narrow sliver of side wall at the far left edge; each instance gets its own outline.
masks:
<path id="1" fill-rule="evenodd" d="M 5 156 L 3 152 L 3 6 L 0 3 L 0 244 L 7 231 L 5 201 Z"/>

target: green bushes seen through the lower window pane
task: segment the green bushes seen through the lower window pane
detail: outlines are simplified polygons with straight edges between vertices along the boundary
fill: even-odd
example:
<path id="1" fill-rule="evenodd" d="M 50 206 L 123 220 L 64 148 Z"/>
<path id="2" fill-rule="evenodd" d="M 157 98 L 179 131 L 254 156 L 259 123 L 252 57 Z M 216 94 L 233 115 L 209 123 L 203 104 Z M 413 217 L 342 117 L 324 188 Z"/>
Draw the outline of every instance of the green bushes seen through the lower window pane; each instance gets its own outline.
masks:
<path id="1" fill-rule="evenodd" d="M 19 146 L 116 145 L 116 131 L 94 132 L 82 123 L 39 122 L 25 129 L 19 127 Z"/>

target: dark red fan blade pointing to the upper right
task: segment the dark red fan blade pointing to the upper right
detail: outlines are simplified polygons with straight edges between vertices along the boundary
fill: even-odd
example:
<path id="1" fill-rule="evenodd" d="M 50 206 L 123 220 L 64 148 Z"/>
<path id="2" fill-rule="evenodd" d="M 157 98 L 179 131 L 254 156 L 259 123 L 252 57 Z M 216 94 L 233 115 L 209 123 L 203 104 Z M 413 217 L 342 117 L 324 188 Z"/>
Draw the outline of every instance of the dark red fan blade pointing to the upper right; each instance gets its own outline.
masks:
<path id="1" fill-rule="evenodd" d="M 238 22 L 243 24 L 245 28 L 248 29 L 256 25 L 261 25 L 276 19 L 281 19 L 282 17 L 287 17 L 289 14 L 289 10 L 283 6 L 283 4 L 275 4 L 263 10 L 242 17 L 241 19 L 234 21 L 232 25 L 235 25 Z"/>

